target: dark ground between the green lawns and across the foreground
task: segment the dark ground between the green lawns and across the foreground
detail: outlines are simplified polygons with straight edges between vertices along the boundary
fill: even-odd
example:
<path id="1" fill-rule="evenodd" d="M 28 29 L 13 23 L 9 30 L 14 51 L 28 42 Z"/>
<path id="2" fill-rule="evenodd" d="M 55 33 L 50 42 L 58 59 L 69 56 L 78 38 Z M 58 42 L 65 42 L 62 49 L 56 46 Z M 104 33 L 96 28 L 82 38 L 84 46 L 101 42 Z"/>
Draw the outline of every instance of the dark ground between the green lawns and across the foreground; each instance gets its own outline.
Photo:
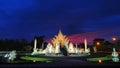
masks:
<path id="1" fill-rule="evenodd" d="M 105 56 L 106 54 L 96 54 L 97 56 Z M 41 56 L 44 57 L 44 56 Z M 46 67 L 56 67 L 56 68 L 61 68 L 61 67 L 105 67 L 105 66 L 110 66 L 110 67 L 117 67 L 120 66 L 120 62 L 114 63 L 114 62 L 89 62 L 86 61 L 87 58 L 89 57 L 96 57 L 95 55 L 91 56 L 85 56 L 85 57 L 49 57 L 49 58 L 55 58 L 57 59 L 54 62 L 44 62 L 44 63 L 1 63 L 0 67 L 41 67 L 41 68 L 46 68 Z M 48 58 L 48 57 L 44 57 Z"/>

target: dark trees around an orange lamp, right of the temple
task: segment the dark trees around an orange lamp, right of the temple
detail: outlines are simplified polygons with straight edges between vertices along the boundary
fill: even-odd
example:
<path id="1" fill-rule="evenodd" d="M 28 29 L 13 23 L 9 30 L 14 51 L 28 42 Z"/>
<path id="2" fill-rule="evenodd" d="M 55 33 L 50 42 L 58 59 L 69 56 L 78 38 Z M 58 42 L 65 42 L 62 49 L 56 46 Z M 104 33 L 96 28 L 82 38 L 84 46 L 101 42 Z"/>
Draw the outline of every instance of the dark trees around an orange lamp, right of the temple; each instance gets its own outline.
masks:
<path id="1" fill-rule="evenodd" d="M 120 51 L 120 40 L 117 39 L 113 42 L 110 42 L 103 38 L 95 38 L 93 40 L 93 46 L 96 46 L 98 51 L 112 51 L 113 48 L 116 48 L 117 51 Z"/>

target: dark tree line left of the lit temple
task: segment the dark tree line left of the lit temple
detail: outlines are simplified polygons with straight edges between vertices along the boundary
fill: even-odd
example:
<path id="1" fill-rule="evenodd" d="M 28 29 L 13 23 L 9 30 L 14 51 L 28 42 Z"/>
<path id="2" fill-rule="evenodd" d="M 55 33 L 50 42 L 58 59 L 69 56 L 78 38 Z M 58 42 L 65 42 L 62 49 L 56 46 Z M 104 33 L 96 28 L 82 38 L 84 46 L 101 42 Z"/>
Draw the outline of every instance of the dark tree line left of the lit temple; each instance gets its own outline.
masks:
<path id="1" fill-rule="evenodd" d="M 38 39 L 38 48 L 44 41 L 44 36 L 35 36 Z M 26 39 L 0 39 L 0 51 L 32 51 L 34 47 L 34 39 L 28 42 Z"/>

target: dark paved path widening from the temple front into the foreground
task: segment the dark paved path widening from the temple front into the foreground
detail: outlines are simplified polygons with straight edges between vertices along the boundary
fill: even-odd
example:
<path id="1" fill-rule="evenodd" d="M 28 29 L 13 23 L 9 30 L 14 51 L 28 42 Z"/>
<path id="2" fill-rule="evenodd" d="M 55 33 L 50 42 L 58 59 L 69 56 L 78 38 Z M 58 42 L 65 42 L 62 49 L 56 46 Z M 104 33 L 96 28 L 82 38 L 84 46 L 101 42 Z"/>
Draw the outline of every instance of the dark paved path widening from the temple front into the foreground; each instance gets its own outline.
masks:
<path id="1" fill-rule="evenodd" d="M 119 66 L 120 64 L 99 64 L 99 63 L 92 63 L 92 62 L 87 62 L 87 61 L 83 61 L 85 58 L 60 58 L 55 62 L 48 62 L 48 63 L 27 63 L 27 64 L 1 64 L 1 67 L 5 67 L 5 68 L 14 68 L 14 67 L 25 67 L 25 68 L 29 68 L 29 67 L 41 67 L 41 68 L 50 68 L 50 67 L 56 67 L 56 68 L 61 68 L 61 67 L 100 67 L 100 66 Z"/>

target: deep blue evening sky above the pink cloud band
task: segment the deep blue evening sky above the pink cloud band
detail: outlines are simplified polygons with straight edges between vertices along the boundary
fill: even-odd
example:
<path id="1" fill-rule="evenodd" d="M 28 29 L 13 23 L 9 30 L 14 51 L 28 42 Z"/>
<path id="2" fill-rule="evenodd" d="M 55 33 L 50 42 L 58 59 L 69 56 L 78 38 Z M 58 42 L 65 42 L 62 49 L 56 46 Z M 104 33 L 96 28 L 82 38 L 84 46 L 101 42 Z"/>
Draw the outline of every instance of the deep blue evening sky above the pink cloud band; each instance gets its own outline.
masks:
<path id="1" fill-rule="evenodd" d="M 119 27 L 119 0 L 0 0 L 0 38 L 53 37 Z"/>

